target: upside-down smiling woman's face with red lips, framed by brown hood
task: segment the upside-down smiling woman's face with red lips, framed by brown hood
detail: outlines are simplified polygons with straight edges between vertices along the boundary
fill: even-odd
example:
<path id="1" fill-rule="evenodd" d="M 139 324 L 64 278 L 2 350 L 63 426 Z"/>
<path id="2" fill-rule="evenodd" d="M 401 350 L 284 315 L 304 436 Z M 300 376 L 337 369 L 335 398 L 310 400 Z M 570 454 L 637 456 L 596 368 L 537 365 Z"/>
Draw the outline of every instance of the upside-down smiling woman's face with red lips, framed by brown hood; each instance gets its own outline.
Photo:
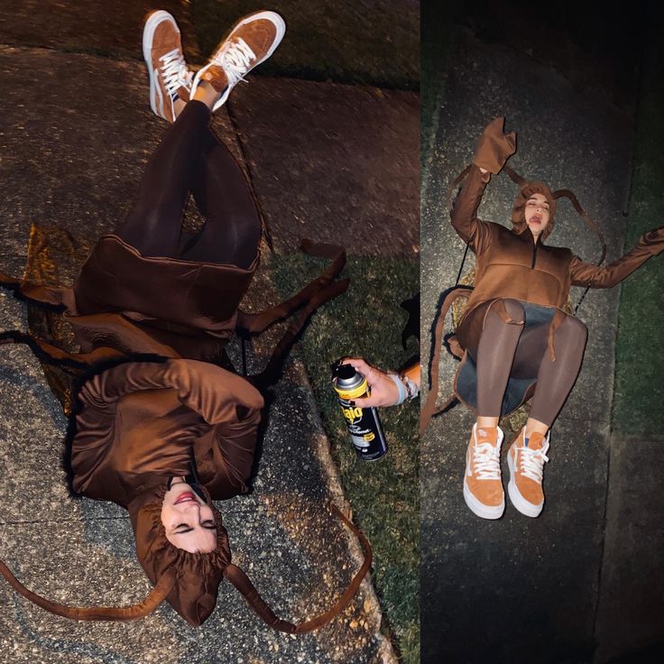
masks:
<path id="1" fill-rule="evenodd" d="M 173 480 L 163 497 L 161 523 L 166 539 L 190 553 L 208 553 L 217 548 L 217 527 L 212 508 L 183 480 Z"/>

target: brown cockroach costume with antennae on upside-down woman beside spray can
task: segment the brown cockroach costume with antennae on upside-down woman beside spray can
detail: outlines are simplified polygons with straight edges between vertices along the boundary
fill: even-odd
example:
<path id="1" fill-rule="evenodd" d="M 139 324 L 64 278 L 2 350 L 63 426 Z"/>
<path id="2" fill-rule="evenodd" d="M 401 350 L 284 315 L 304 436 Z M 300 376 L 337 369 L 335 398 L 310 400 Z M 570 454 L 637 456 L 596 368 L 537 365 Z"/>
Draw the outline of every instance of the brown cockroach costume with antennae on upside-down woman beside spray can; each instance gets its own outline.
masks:
<path id="1" fill-rule="evenodd" d="M 370 547 L 361 533 L 367 558 L 346 594 L 330 612 L 296 627 L 279 620 L 242 570 L 230 563 L 226 530 L 214 506 L 217 549 L 211 553 L 176 549 L 161 524 L 168 478 L 189 475 L 192 457 L 208 499 L 230 498 L 247 490 L 263 397 L 247 380 L 210 361 L 218 361 L 238 325 L 258 332 L 301 308 L 268 363 L 273 370 L 311 313 L 346 290 L 347 281 L 335 281 L 346 260 L 343 250 L 309 241 L 303 241 L 302 249 L 332 263 L 290 300 L 254 315 L 244 314 L 238 305 L 258 257 L 247 270 L 148 258 L 119 237 L 106 235 L 73 289 L 33 286 L 0 273 L 0 283 L 23 298 L 63 305 L 82 353 L 70 355 L 13 332 L 3 333 L 0 343 L 29 342 L 51 360 L 78 365 L 125 355 L 131 360 L 137 353 L 161 355 L 161 361 L 127 361 L 88 378 L 78 393 L 71 449 L 73 488 L 129 510 L 137 557 L 155 584 L 152 594 L 140 606 L 126 610 L 62 607 L 30 593 L 0 562 L 0 572 L 18 592 L 54 613 L 79 620 L 134 619 L 165 597 L 182 617 L 198 625 L 214 609 L 217 586 L 226 576 L 263 620 L 285 632 L 316 629 L 346 606 L 371 564 Z"/>

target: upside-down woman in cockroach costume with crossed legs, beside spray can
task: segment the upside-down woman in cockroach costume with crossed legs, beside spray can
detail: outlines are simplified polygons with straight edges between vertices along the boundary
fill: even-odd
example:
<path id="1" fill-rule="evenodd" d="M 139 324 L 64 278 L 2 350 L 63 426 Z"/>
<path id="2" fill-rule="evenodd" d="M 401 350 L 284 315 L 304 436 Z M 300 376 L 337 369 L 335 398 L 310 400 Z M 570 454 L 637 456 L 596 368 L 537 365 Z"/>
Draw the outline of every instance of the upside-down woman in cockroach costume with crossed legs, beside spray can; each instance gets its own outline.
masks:
<path id="1" fill-rule="evenodd" d="M 151 105 L 172 125 L 145 169 L 134 210 L 97 242 L 73 289 L 3 275 L 4 285 L 24 299 L 62 305 L 82 353 L 30 339 L 33 347 L 63 367 L 97 367 L 78 392 L 72 488 L 129 511 L 137 557 L 155 586 L 134 607 L 75 609 L 32 594 L 0 563 L 16 590 L 54 613 L 131 620 L 167 599 L 198 625 L 212 613 L 226 577 L 273 627 L 306 632 L 347 604 L 369 567 L 367 556 L 332 611 L 298 626 L 281 621 L 231 564 L 212 503 L 247 491 L 263 409 L 253 384 L 217 364 L 226 341 L 236 328 L 260 331 L 303 307 L 272 357 L 273 369 L 312 311 L 347 287 L 335 281 L 343 251 L 309 243 L 310 254 L 334 259 L 317 281 L 263 314 L 238 309 L 258 265 L 261 221 L 243 172 L 209 123 L 235 84 L 270 57 L 284 31 L 278 14 L 247 16 L 194 78 L 171 14 L 151 14 L 143 32 Z M 206 223 L 187 238 L 180 224 L 189 192 Z M 15 333 L 2 337 L 26 340 Z M 148 357 L 152 361 L 144 361 Z"/>

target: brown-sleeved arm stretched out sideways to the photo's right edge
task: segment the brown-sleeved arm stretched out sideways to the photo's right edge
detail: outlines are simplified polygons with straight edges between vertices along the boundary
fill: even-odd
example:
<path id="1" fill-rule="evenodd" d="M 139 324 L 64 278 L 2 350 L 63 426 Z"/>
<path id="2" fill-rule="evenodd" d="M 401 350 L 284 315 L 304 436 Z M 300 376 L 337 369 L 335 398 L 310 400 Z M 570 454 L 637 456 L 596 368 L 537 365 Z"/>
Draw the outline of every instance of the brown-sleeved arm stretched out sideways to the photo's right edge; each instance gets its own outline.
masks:
<path id="1" fill-rule="evenodd" d="M 639 243 L 632 251 L 604 267 L 584 263 L 578 256 L 574 256 L 572 263 L 569 264 L 572 285 L 613 288 L 641 267 L 651 256 L 657 256 L 662 252 L 664 252 L 664 226 L 641 235 Z"/>

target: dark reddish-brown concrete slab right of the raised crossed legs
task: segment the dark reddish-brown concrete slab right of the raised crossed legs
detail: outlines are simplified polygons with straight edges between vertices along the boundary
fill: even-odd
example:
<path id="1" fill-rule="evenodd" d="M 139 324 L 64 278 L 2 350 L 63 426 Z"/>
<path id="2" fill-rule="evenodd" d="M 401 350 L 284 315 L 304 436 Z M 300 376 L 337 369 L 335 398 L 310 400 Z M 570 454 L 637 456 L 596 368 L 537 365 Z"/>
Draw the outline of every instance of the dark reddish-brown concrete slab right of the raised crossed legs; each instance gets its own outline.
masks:
<path id="1" fill-rule="evenodd" d="M 281 252 L 313 236 L 352 254 L 417 254 L 415 93 L 254 78 L 229 107 Z"/>

